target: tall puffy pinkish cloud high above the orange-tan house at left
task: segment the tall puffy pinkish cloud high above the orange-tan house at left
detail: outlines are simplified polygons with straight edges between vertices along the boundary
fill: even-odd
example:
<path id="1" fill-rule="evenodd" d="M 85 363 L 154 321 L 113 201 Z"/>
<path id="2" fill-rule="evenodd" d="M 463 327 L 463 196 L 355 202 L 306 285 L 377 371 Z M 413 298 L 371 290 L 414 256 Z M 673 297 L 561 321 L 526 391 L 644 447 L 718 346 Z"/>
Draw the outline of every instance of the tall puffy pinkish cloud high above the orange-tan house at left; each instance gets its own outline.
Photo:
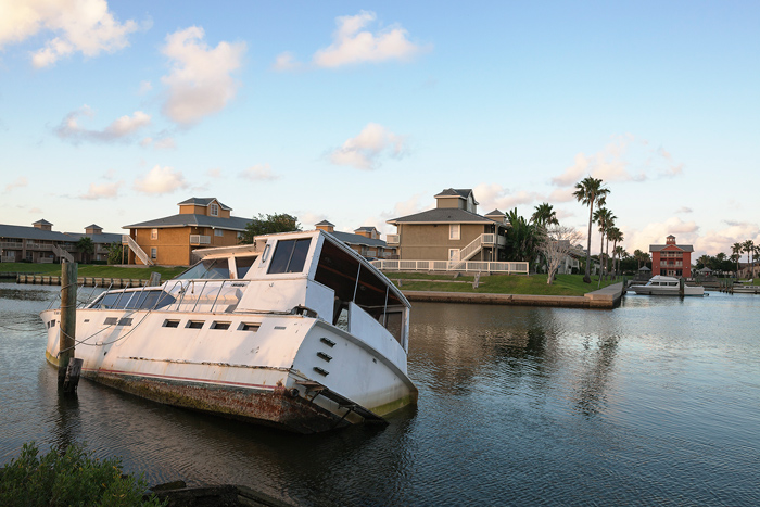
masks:
<path id="1" fill-rule="evenodd" d="M 166 36 L 162 49 L 172 61 L 172 72 L 161 78 L 169 88 L 163 112 L 181 125 L 221 111 L 238 90 L 230 74 L 242 65 L 245 43 L 223 41 L 212 49 L 204 36 L 203 28 L 191 26 Z"/>

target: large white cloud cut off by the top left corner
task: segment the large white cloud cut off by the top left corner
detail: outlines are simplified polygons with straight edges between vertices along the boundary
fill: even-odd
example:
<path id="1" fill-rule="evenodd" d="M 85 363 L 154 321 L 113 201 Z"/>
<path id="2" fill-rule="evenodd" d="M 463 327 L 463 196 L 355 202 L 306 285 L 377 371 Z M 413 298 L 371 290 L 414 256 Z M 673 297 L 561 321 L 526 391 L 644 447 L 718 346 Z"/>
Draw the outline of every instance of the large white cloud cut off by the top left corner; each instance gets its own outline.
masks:
<path id="1" fill-rule="evenodd" d="M 105 0 L 24 0 L 3 2 L 0 14 L 0 49 L 40 33 L 50 33 L 45 47 L 35 51 L 37 68 L 80 52 L 97 56 L 129 45 L 127 36 L 139 29 L 132 21 L 119 23 Z"/>

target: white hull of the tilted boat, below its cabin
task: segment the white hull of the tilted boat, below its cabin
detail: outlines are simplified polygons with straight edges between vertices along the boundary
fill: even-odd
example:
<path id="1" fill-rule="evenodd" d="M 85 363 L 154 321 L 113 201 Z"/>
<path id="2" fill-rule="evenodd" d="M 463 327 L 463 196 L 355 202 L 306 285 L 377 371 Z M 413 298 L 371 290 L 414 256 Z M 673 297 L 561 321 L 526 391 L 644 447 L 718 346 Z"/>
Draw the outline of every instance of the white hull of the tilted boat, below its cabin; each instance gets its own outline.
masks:
<path id="1" fill-rule="evenodd" d="M 300 316 L 225 314 L 227 320 L 254 319 L 261 322 L 261 329 L 240 332 L 233 322 L 225 331 L 185 326 L 167 330 L 163 322 L 167 317 L 176 318 L 176 314 L 152 313 L 131 314 L 130 328 L 102 324 L 114 316 L 117 321 L 125 318 L 122 312 L 78 312 L 80 343 L 75 357 L 84 362 L 81 375 L 157 403 L 297 433 L 317 433 L 368 420 L 384 422 L 380 416 L 417 400 L 417 390 L 404 371 L 387 364 L 385 357 L 362 340 L 324 321 Z M 58 366 L 60 328 L 55 322 L 60 312 L 43 312 L 41 318 L 48 322 L 46 357 Z M 193 320 L 204 318 L 213 321 L 220 317 L 192 316 Z M 157 335 L 162 337 L 160 341 L 154 340 Z M 332 347 L 325 345 L 322 339 L 327 337 Z M 321 358 L 325 354 L 316 354 L 320 346 L 334 356 L 331 364 Z M 372 384 L 385 395 L 352 391 L 350 386 L 359 382 L 347 378 L 356 375 L 343 366 L 347 364 L 373 375 Z M 331 372 L 321 377 L 315 369 Z M 359 415 L 362 410 L 366 410 L 364 416 Z"/>

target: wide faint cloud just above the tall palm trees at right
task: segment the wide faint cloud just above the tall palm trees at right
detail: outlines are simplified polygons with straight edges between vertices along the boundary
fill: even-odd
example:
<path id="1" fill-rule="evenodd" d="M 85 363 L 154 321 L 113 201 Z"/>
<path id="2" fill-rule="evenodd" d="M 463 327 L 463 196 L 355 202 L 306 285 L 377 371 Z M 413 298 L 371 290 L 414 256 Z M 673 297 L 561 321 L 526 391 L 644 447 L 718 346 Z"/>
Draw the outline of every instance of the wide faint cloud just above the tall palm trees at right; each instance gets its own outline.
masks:
<path id="1" fill-rule="evenodd" d="M 601 151 L 586 155 L 578 153 L 573 164 L 552 178 L 558 187 L 570 187 L 591 175 L 605 182 L 646 181 L 653 178 L 680 176 L 684 165 L 675 163 L 662 148 L 651 150 L 649 142 L 631 135 L 617 136 Z"/>

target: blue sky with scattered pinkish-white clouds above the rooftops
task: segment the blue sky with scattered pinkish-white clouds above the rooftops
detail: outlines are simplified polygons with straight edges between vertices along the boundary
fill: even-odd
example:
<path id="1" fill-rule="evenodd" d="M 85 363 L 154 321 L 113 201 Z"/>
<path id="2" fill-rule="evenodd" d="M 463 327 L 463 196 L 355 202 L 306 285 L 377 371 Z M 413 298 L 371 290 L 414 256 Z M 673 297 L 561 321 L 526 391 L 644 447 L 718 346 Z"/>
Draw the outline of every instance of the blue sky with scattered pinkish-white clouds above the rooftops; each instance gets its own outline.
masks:
<path id="1" fill-rule="evenodd" d="M 385 235 L 471 188 L 585 238 L 592 176 L 630 254 L 731 254 L 760 244 L 759 54 L 753 0 L 0 0 L 0 224 L 214 197 Z"/>

